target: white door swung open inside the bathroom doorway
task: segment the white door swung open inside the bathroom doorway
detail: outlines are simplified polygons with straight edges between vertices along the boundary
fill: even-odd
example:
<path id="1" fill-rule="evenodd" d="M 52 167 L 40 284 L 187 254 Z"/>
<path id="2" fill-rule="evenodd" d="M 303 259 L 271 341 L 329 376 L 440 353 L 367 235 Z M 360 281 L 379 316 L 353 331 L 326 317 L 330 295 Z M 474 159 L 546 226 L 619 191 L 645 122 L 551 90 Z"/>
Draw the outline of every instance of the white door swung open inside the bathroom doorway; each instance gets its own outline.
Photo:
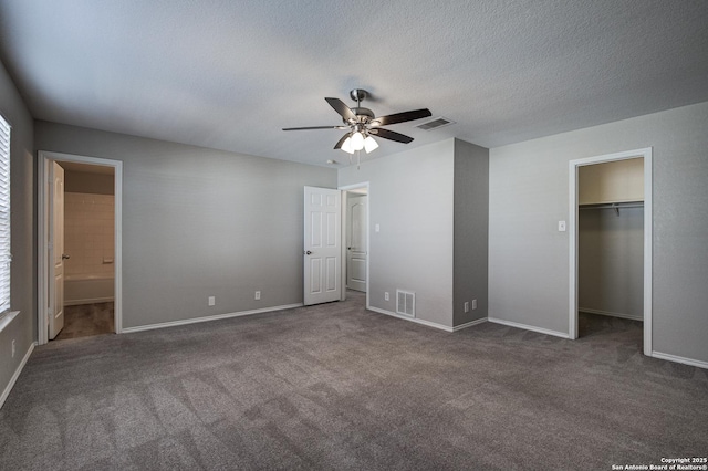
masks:
<path id="1" fill-rule="evenodd" d="M 49 191 L 49 339 L 56 337 L 64 327 L 64 169 L 52 161 Z"/>

